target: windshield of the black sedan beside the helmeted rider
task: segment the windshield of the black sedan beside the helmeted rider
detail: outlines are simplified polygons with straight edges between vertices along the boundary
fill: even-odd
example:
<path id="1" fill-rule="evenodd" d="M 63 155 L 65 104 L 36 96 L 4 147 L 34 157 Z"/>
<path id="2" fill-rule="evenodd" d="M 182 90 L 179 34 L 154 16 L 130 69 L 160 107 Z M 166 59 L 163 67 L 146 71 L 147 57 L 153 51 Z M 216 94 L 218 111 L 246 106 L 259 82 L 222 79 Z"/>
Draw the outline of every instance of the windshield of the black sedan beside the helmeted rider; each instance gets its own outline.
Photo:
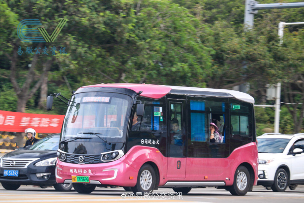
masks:
<path id="1" fill-rule="evenodd" d="M 60 136 L 47 136 L 32 146 L 29 147 L 29 150 L 57 150 L 59 145 Z"/>

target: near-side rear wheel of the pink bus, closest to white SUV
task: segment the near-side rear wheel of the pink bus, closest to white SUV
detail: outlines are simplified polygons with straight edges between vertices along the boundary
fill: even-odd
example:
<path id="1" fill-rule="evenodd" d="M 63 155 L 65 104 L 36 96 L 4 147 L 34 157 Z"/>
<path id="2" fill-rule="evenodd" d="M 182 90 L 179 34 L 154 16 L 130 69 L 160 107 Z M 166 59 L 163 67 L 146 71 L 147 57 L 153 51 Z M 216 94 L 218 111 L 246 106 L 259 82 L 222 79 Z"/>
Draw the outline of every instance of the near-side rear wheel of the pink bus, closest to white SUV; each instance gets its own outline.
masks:
<path id="1" fill-rule="evenodd" d="M 250 188 L 250 175 L 245 166 L 239 166 L 234 174 L 233 185 L 229 187 L 232 195 L 245 195 Z"/>

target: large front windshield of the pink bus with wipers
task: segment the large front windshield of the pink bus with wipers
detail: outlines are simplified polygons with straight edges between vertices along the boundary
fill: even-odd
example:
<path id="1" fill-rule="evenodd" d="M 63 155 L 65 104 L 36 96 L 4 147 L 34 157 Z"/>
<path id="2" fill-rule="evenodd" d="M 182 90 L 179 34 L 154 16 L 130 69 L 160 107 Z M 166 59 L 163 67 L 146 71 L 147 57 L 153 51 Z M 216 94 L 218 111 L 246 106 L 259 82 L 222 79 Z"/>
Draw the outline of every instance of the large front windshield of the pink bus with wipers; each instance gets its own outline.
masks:
<path id="1" fill-rule="evenodd" d="M 81 137 L 89 138 L 81 139 L 81 142 L 125 141 L 132 104 L 130 96 L 87 92 L 75 94 L 71 101 L 64 118 L 61 140 Z"/>

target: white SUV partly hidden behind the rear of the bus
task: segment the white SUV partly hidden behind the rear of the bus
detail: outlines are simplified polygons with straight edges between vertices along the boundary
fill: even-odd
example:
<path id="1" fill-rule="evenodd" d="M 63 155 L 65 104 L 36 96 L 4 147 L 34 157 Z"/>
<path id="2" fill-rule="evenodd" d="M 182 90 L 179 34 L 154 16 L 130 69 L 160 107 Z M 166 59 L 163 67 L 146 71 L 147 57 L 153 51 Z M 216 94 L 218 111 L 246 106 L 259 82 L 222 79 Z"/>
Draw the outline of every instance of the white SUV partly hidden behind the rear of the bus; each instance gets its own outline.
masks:
<path id="1" fill-rule="evenodd" d="M 259 152 L 257 185 L 274 192 L 295 190 L 304 184 L 304 134 L 265 133 L 257 137 Z"/>

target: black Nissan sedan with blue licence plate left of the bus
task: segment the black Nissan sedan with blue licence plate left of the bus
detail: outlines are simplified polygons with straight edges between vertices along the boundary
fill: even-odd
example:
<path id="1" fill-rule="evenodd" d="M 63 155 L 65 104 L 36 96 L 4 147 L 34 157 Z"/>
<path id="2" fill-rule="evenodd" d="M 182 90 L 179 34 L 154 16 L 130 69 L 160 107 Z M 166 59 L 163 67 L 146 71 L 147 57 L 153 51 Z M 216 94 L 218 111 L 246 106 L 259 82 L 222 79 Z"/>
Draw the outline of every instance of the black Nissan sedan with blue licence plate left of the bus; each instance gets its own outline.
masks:
<path id="1" fill-rule="evenodd" d="M 60 134 L 49 135 L 35 144 L 7 153 L 0 159 L 0 182 L 7 190 L 20 185 L 54 186 L 56 191 L 70 191 L 72 184 L 57 184 L 55 168 Z"/>

